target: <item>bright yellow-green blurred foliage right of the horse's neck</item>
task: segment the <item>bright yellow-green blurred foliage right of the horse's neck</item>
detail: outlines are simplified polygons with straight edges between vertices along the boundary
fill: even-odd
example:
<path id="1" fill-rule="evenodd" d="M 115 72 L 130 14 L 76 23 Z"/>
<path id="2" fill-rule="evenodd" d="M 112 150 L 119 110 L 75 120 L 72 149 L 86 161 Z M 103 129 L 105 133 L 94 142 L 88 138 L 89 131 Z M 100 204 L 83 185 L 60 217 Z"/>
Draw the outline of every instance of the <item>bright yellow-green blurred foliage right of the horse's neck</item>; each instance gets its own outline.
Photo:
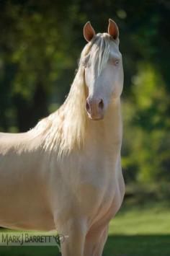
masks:
<path id="1" fill-rule="evenodd" d="M 170 181 L 169 96 L 163 77 L 153 65 L 140 63 L 125 99 L 124 157 L 129 180 Z"/>

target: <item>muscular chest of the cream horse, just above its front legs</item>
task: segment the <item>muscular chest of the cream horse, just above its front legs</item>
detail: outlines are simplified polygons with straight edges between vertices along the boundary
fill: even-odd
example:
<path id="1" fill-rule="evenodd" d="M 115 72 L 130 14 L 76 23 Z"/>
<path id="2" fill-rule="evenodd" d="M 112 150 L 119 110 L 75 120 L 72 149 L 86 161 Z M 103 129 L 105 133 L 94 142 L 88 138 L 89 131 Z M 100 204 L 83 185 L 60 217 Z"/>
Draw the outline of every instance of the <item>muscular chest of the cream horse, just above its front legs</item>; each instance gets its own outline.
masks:
<path id="1" fill-rule="evenodd" d="M 79 196 L 90 222 L 109 221 L 121 206 L 123 193 L 120 192 L 121 171 L 117 164 L 105 169 L 94 169 L 81 176 Z"/>

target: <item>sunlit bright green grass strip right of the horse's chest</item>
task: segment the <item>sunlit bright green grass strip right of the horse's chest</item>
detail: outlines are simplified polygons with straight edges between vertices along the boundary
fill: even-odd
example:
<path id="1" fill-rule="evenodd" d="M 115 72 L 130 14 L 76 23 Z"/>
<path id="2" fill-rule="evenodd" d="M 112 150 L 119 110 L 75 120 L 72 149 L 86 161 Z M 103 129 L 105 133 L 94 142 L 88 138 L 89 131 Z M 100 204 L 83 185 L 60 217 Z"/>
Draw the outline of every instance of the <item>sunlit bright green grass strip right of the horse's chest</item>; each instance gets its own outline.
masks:
<path id="1" fill-rule="evenodd" d="M 126 207 L 109 226 L 109 234 L 170 234 L 170 208 L 161 203 Z"/>

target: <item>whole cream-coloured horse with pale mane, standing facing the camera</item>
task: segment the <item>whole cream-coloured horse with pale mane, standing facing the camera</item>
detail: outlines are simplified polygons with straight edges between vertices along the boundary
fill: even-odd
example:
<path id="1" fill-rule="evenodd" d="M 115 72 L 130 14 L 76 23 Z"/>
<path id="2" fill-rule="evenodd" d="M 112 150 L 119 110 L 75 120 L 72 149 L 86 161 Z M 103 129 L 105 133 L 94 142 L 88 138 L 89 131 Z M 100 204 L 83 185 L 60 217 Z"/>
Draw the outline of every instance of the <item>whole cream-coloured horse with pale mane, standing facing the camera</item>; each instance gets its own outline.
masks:
<path id="1" fill-rule="evenodd" d="M 27 133 L 0 133 L 0 226 L 57 229 L 63 256 L 102 255 L 121 206 L 123 85 L 119 31 L 88 41 L 66 102 Z"/>

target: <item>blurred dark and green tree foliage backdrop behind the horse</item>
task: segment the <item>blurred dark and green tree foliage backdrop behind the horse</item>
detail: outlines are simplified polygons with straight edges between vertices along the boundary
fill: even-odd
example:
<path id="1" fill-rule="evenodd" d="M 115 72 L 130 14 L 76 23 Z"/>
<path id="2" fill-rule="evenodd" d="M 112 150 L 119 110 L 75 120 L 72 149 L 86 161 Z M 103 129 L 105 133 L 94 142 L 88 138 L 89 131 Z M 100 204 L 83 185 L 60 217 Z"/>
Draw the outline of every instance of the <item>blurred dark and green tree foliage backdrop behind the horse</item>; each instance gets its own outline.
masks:
<path id="1" fill-rule="evenodd" d="M 0 1 L 0 129 L 27 131 L 57 108 L 85 45 L 108 18 L 120 28 L 126 182 L 170 181 L 170 4 L 125 0 Z"/>

